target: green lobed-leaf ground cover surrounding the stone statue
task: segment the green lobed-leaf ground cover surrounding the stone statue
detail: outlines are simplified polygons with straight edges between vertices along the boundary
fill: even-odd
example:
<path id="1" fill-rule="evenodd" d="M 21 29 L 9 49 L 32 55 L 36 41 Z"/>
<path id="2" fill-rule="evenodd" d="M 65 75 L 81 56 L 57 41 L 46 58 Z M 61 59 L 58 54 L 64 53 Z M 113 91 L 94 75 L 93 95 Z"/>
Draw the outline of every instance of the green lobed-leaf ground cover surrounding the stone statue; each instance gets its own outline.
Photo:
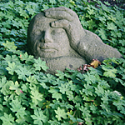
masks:
<path id="1" fill-rule="evenodd" d="M 104 60 L 83 74 L 69 69 L 47 74 L 45 62 L 26 52 L 27 27 L 35 14 L 57 6 L 74 10 L 85 29 L 117 48 L 123 58 Z M 0 20 L 0 124 L 125 124 L 123 9 L 100 1 L 15 0 L 0 3 Z"/>

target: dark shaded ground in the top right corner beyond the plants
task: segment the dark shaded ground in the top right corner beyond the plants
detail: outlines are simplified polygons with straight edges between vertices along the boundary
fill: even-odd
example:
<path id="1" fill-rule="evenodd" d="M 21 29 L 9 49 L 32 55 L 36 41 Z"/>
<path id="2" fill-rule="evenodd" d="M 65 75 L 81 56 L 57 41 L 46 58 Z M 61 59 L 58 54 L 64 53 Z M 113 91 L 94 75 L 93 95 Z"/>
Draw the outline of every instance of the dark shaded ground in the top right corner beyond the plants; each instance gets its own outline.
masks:
<path id="1" fill-rule="evenodd" d="M 91 2 L 93 0 L 88 0 L 88 2 Z M 100 0 L 102 3 L 109 2 L 111 6 L 118 6 L 122 9 L 125 9 L 125 0 Z M 104 3 L 105 4 L 105 3 Z"/>

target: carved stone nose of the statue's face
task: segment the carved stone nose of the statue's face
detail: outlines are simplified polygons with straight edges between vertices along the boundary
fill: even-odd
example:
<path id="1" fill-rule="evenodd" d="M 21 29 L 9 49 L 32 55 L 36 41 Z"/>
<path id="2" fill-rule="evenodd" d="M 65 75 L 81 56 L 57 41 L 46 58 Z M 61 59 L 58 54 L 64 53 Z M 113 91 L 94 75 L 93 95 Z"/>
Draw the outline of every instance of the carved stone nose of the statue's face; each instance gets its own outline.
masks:
<path id="1" fill-rule="evenodd" d="M 42 42 L 44 42 L 44 43 L 53 42 L 50 30 L 45 31 L 44 36 L 42 38 Z"/>

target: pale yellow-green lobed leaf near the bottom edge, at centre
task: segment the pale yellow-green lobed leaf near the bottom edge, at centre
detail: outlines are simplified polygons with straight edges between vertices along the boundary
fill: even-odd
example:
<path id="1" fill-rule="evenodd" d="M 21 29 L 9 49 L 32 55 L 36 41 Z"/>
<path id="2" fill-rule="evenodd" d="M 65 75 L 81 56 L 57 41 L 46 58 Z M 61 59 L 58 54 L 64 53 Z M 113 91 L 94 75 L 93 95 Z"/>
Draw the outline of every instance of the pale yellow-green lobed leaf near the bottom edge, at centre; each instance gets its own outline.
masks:
<path id="1" fill-rule="evenodd" d="M 67 119 L 67 113 L 65 112 L 64 109 L 60 109 L 59 107 L 57 108 L 57 110 L 55 110 L 56 113 L 56 118 L 61 121 L 63 119 Z"/>

